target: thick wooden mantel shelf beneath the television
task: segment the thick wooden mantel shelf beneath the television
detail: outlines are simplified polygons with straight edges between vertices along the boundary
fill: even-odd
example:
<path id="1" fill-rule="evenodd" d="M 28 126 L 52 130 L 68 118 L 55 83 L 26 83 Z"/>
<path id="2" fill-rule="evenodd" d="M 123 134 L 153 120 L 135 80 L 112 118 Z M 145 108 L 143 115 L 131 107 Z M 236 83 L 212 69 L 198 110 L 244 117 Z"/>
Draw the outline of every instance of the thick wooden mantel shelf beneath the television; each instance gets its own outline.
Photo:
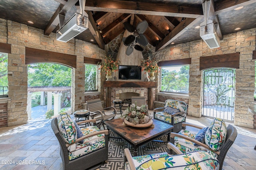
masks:
<path id="1" fill-rule="evenodd" d="M 104 81 L 104 87 L 142 87 L 156 88 L 156 82 Z"/>

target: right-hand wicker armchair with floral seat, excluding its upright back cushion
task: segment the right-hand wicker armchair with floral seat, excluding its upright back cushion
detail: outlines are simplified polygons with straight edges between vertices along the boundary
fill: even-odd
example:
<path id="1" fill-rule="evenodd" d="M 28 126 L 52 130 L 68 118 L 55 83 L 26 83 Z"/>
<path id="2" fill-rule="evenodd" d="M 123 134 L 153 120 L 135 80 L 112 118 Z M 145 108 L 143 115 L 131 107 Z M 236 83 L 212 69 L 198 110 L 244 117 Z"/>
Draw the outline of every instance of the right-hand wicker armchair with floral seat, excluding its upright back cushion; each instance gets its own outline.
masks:
<path id="1" fill-rule="evenodd" d="M 214 119 L 215 120 L 215 119 Z M 212 124 L 211 124 L 212 125 Z M 209 127 L 211 127 L 211 125 Z M 194 125 L 190 123 L 182 123 L 183 127 L 191 126 L 198 129 L 202 129 L 203 127 L 199 125 Z M 207 127 L 206 127 L 207 129 Z M 215 129 L 216 130 L 216 129 Z M 218 133 L 215 130 L 212 131 L 212 134 Z M 222 130 L 221 130 L 222 131 Z M 222 133 L 222 132 L 221 132 Z M 192 152 L 194 150 L 207 150 L 208 152 L 212 152 L 212 154 L 215 154 L 216 158 L 218 159 L 220 163 L 220 170 L 222 169 L 223 162 L 225 159 L 225 156 L 230 149 L 231 145 L 234 143 L 236 136 L 237 136 L 237 130 L 234 126 L 228 125 L 226 127 L 226 139 L 222 141 L 222 145 L 220 149 L 212 149 L 213 143 L 202 143 L 200 141 L 195 140 L 196 135 L 198 133 L 195 133 L 193 131 L 188 130 L 182 130 L 180 133 L 171 133 L 171 143 L 173 143 L 176 147 L 178 147 L 183 153 Z M 220 140 L 223 139 L 223 137 L 220 137 Z M 199 146 L 195 146 L 199 145 Z M 210 147 L 209 147 L 210 146 Z M 172 152 L 172 154 L 175 154 L 175 152 Z"/>

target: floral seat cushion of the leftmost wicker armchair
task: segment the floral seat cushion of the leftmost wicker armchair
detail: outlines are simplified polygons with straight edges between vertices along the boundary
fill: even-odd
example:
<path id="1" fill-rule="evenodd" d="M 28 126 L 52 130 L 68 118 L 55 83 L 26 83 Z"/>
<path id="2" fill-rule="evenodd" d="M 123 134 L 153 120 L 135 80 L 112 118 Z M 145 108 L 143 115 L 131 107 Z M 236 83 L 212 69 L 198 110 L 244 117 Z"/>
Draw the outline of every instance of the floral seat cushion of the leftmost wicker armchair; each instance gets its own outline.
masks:
<path id="1" fill-rule="evenodd" d="M 95 131 L 100 131 L 100 129 L 97 126 L 88 126 L 88 127 L 82 128 L 81 131 L 83 135 L 88 135 Z M 68 151 L 70 152 L 69 160 L 74 160 L 80 156 L 83 156 L 85 154 L 88 154 L 90 152 L 93 152 L 95 150 L 105 147 L 104 137 L 105 137 L 104 134 L 96 135 L 96 136 L 84 139 L 84 142 L 82 144 L 74 143 L 73 145 L 70 145 L 68 147 Z"/>

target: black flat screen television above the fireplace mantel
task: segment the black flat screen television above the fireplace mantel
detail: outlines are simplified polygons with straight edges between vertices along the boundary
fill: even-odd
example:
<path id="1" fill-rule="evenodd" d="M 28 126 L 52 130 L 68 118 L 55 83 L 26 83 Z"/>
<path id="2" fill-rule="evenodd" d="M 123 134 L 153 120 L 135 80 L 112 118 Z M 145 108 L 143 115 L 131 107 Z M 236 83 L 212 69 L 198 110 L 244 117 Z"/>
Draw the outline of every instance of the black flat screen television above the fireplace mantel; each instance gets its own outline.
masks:
<path id="1" fill-rule="evenodd" d="M 119 65 L 119 76 L 121 80 L 141 80 L 141 67 L 140 66 L 127 66 Z"/>

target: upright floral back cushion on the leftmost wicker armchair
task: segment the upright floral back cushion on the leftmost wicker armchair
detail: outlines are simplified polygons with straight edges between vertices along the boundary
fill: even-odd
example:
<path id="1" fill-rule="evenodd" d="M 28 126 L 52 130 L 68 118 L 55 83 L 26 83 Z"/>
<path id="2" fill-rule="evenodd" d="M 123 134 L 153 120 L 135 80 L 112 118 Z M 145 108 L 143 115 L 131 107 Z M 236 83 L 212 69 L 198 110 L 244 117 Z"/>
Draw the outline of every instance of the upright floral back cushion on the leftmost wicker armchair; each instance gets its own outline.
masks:
<path id="1" fill-rule="evenodd" d="M 74 143 L 77 139 L 76 135 L 76 126 L 71 119 L 70 115 L 66 112 L 60 113 L 57 117 L 58 119 L 58 128 L 62 137 L 66 143 Z"/>

